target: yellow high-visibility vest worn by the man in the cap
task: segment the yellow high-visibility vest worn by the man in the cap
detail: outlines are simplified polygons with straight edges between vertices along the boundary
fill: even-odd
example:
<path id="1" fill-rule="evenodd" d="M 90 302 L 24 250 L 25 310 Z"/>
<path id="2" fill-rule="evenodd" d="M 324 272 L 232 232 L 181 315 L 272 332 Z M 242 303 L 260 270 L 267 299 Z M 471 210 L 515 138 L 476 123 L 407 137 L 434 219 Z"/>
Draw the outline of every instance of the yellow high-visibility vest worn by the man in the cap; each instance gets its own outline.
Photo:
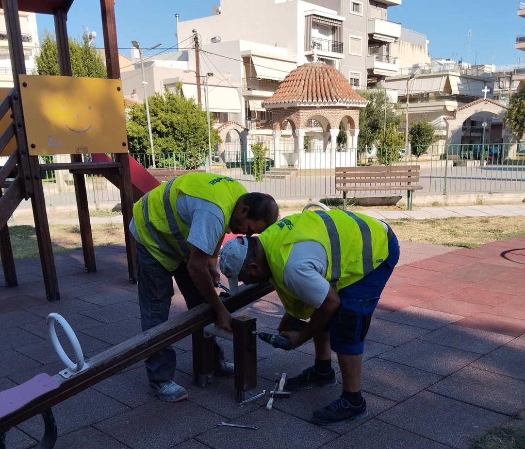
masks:
<path id="1" fill-rule="evenodd" d="M 259 235 L 274 285 L 287 313 L 308 319 L 314 308 L 296 298 L 284 283 L 293 244 L 318 242 L 328 256 L 326 279 L 335 291 L 348 287 L 379 267 L 388 257 L 383 224 L 361 213 L 342 210 L 305 211 L 290 215 Z M 324 300 L 324 298 L 323 298 Z"/>

